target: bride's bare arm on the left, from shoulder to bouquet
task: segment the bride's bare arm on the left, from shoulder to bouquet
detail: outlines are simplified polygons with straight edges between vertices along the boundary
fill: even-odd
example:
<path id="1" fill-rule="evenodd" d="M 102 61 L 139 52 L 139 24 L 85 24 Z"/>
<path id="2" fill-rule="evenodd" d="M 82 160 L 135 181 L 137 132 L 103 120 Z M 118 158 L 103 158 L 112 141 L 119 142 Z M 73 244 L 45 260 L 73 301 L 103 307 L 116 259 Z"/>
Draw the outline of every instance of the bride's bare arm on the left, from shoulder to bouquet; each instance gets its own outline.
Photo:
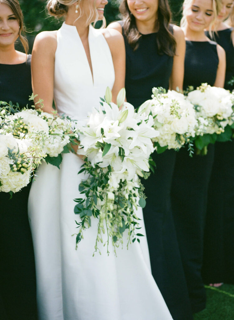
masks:
<path id="1" fill-rule="evenodd" d="M 41 32 L 36 36 L 32 52 L 32 87 L 37 95 L 35 103 L 42 99 L 44 112 L 52 113 L 54 89 L 54 61 L 57 48 L 56 31 Z"/>

